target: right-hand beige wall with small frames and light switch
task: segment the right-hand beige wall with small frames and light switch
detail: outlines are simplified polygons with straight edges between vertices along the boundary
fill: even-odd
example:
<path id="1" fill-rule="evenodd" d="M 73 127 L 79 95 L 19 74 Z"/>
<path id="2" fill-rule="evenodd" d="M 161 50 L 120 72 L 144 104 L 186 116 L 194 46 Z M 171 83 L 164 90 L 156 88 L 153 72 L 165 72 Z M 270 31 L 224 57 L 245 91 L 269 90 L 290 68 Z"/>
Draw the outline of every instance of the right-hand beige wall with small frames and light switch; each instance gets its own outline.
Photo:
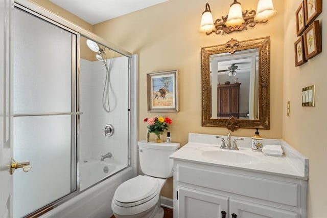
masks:
<path id="1" fill-rule="evenodd" d="M 327 215 L 327 4 L 317 18 L 322 25 L 322 53 L 300 67 L 294 64 L 295 11 L 302 1 L 285 1 L 283 138 L 309 158 L 308 217 Z M 323 1 L 324 2 L 324 1 Z M 324 2 L 326 3 L 326 2 Z M 316 85 L 316 106 L 301 106 L 302 88 Z M 286 113 L 291 103 L 290 117 Z"/>

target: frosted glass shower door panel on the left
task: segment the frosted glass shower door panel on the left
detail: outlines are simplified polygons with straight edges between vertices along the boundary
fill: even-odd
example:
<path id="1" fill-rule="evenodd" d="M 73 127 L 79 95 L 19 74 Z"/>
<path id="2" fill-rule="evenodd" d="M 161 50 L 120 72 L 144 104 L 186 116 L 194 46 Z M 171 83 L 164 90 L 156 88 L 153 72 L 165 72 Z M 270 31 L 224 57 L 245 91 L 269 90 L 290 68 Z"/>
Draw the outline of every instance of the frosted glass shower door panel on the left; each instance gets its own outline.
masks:
<path id="1" fill-rule="evenodd" d="M 76 190 L 77 34 L 15 8 L 14 217 Z"/>

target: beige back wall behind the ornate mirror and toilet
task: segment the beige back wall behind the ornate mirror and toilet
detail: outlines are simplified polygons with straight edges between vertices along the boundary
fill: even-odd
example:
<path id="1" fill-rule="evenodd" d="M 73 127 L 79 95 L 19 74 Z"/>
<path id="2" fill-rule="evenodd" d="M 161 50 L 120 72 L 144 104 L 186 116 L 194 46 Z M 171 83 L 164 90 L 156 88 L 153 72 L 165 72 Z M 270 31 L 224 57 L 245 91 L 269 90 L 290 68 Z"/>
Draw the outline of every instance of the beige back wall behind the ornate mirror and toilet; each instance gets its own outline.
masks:
<path id="1" fill-rule="evenodd" d="M 226 15 L 230 1 L 210 2 L 214 18 Z M 244 1 L 243 9 L 255 9 L 258 0 Z M 261 130 L 265 138 L 282 138 L 283 114 L 283 47 L 284 1 L 274 1 L 278 13 L 268 24 L 257 25 L 247 31 L 206 36 L 199 32 L 205 2 L 198 0 L 170 0 L 168 2 L 94 25 L 94 33 L 139 56 L 139 134 L 145 139 L 145 117 L 169 116 L 173 142 L 188 142 L 188 133 L 226 135 L 226 128 L 201 126 L 201 55 L 205 46 L 225 43 L 230 38 L 246 40 L 271 37 L 270 130 Z M 148 113 L 146 74 L 154 71 L 178 69 L 179 113 Z M 252 136 L 253 129 L 239 129 L 237 136 Z M 170 179 L 162 195 L 172 198 Z"/>

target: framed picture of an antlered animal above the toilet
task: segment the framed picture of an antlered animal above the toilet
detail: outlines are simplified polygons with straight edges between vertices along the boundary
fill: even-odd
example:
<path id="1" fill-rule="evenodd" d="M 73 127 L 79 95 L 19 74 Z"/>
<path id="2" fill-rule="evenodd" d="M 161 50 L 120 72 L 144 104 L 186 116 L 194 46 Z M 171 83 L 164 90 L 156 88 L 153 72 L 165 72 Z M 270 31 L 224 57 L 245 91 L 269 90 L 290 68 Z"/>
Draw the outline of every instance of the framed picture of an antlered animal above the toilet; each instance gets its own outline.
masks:
<path id="1" fill-rule="evenodd" d="M 147 74 L 148 112 L 178 112 L 178 71 Z"/>

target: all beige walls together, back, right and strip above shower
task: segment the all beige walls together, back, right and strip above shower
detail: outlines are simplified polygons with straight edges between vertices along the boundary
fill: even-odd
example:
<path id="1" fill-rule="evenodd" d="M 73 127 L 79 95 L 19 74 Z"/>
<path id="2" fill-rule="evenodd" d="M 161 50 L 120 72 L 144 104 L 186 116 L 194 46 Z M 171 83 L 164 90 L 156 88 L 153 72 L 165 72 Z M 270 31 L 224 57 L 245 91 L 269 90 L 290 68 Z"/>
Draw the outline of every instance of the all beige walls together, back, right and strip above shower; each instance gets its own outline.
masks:
<path id="1" fill-rule="evenodd" d="M 265 25 L 227 35 L 199 33 L 201 13 L 205 2 L 170 0 L 166 3 L 90 26 L 75 15 L 53 5 L 48 0 L 33 0 L 77 25 L 94 31 L 104 39 L 139 55 L 139 136 L 145 139 L 145 117 L 167 115 L 173 119 L 170 127 L 172 141 L 182 145 L 188 133 L 223 134 L 227 129 L 201 127 L 201 62 L 200 48 L 225 43 L 231 37 L 246 40 L 271 37 L 270 130 L 261 130 L 265 138 L 283 138 L 309 158 L 308 217 L 327 214 L 327 74 L 324 72 L 327 45 L 323 52 L 301 67 L 294 66 L 295 11 L 300 0 L 274 1 L 277 14 Z M 257 0 L 244 1 L 243 9 L 255 9 Z M 209 2 L 214 18 L 226 15 L 228 1 Z M 323 5 L 327 11 L 327 5 Z M 326 35 L 326 13 L 318 19 Z M 324 39 L 324 38 L 323 38 Z M 284 51 L 284 52 L 283 52 Z M 179 113 L 148 113 L 146 73 L 179 70 Z M 301 89 L 316 85 L 316 107 L 301 106 Z M 291 101 L 291 117 L 286 115 L 286 102 Z M 239 129 L 233 135 L 251 136 L 252 129 Z M 172 198 L 172 178 L 162 194 Z"/>

